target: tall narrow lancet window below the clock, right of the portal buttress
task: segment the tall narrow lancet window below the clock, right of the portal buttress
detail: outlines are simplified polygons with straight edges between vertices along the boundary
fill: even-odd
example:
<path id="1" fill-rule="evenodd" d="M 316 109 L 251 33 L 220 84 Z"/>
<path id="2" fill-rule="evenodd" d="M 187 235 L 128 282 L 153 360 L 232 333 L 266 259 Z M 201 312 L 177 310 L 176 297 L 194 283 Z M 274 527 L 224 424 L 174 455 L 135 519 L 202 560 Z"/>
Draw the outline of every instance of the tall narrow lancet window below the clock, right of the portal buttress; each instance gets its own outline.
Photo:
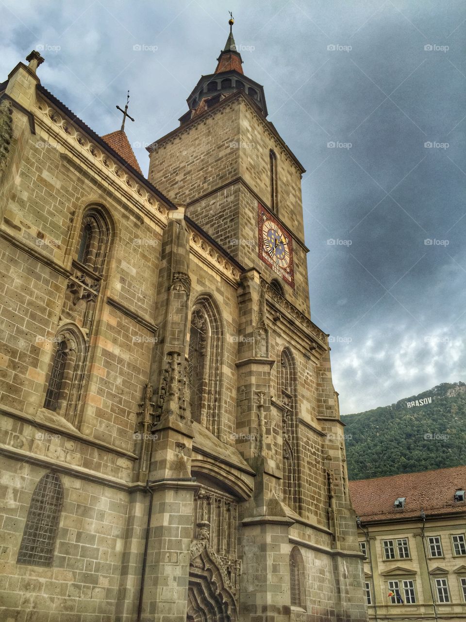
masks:
<path id="1" fill-rule="evenodd" d="M 288 348 L 280 357 L 280 389 L 283 429 L 283 501 L 299 511 L 296 466 L 296 386 L 293 358 Z"/>

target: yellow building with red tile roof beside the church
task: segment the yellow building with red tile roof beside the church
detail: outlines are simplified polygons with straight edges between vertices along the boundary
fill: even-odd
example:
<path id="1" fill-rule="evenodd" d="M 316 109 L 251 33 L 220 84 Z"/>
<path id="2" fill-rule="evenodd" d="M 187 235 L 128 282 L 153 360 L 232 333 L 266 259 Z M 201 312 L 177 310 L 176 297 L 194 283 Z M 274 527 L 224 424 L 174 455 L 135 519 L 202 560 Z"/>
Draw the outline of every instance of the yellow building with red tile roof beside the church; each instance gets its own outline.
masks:
<path id="1" fill-rule="evenodd" d="M 372 620 L 465 620 L 466 466 L 350 482 Z"/>

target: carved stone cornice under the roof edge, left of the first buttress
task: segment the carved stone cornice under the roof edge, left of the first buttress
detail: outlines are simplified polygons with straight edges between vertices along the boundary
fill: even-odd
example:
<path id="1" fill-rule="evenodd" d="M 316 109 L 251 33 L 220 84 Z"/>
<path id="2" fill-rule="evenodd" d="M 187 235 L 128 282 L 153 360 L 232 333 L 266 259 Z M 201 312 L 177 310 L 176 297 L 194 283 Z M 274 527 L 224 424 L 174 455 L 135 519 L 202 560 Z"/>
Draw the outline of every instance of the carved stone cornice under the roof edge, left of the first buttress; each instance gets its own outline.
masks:
<path id="1" fill-rule="evenodd" d="M 89 137 L 76 123 L 76 119 L 69 119 L 45 97 L 37 100 L 35 123 L 69 152 L 68 157 L 73 162 L 78 160 L 85 164 L 106 185 L 121 194 L 124 202 L 130 203 L 159 225 L 166 226 L 168 211 L 176 209 L 176 206 L 171 207 L 168 199 L 167 205 L 164 205 L 157 197 L 156 188 L 148 187 L 152 184 L 145 183 L 142 175 L 139 176 L 129 164 L 125 165 L 111 147 L 104 147 L 105 143 L 98 136 Z"/>

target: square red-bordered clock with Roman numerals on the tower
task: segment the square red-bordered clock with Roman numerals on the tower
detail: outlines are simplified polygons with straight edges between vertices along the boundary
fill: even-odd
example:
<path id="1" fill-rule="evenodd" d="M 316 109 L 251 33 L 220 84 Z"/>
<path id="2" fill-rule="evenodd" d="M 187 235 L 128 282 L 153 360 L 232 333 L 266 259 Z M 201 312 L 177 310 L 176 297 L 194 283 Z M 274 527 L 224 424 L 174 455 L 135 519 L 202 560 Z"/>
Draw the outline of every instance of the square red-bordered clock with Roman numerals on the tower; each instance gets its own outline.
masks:
<path id="1" fill-rule="evenodd" d="M 265 207 L 258 204 L 259 257 L 283 281 L 295 287 L 293 238 Z"/>

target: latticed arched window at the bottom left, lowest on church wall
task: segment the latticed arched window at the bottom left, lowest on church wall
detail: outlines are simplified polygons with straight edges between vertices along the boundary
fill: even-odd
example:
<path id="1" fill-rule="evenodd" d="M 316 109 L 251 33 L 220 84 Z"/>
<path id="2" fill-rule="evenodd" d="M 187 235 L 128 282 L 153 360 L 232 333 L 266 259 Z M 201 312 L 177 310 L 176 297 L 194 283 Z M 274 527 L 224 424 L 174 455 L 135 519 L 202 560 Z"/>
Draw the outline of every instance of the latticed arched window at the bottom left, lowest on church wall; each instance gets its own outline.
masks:
<path id="1" fill-rule="evenodd" d="M 17 557 L 18 564 L 52 565 L 62 503 L 63 488 L 58 475 L 43 475 L 30 500 Z"/>

